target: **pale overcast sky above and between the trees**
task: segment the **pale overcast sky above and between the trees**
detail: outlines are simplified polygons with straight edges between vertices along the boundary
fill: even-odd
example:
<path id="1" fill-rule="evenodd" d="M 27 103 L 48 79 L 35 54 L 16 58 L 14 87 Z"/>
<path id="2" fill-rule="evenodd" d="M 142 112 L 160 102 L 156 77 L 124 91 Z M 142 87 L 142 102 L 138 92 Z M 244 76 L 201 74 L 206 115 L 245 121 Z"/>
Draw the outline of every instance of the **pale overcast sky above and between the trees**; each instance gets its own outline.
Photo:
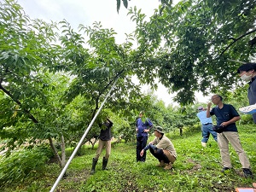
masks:
<path id="1" fill-rule="evenodd" d="M 174 0 L 177 3 L 178 0 Z M 116 43 L 125 42 L 125 33 L 129 34 L 135 30 L 135 23 L 131 21 L 131 15 L 127 15 L 128 9 L 122 4 L 119 13 L 116 9 L 116 0 L 18 0 L 20 6 L 24 9 L 26 15 L 31 19 L 42 19 L 44 21 L 67 20 L 74 30 L 77 30 L 79 24 L 92 26 L 96 22 L 101 22 L 104 28 L 113 28 L 117 32 Z M 142 9 L 142 13 L 147 15 L 154 14 L 154 9 L 160 5 L 159 0 L 131 0 L 128 1 L 129 7 L 137 6 Z M 149 86 L 143 86 L 143 92 L 146 93 Z M 159 89 L 154 92 L 158 99 L 168 104 L 177 105 L 172 102 L 174 95 L 168 94 L 167 89 L 159 84 Z M 207 102 L 207 97 L 200 93 L 195 94 L 200 102 Z"/>

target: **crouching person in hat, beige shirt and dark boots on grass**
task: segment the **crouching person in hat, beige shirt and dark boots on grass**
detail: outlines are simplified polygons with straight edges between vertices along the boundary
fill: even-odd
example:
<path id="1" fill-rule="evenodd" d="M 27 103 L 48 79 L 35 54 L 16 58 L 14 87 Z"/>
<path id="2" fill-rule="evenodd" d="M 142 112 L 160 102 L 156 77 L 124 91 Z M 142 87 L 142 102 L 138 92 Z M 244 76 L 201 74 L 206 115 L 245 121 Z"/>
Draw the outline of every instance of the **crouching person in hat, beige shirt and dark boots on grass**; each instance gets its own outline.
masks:
<path id="1" fill-rule="evenodd" d="M 154 140 L 143 148 L 140 155 L 143 156 L 149 149 L 150 153 L 160 161 L 158 166 L 165 166 L 164 169 L 166 170 L 172 169 L 172 164 L 177 158 L 176 150 L 172 142 L 165 136 L 163 128 L 160 126 L 154 127 L 154 136 Z"/>

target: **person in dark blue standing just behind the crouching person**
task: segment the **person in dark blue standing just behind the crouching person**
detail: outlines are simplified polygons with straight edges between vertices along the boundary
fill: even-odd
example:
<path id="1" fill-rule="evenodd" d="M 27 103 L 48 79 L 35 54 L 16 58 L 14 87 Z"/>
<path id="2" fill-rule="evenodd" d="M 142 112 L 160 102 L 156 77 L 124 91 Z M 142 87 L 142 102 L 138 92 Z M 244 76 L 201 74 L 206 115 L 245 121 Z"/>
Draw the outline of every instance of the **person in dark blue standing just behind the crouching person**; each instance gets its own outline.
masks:
<path id="1" fill-rule="evenodd" d="M 146 160 L 146 153 L 143 156 L 140 155 L 143 148 L 146 147 L 148 142 L 148 132 L 153 127 L 150 119 L 144 116 L 144 112 L 139 113 L 139 118 L 136 121 L 136 131 L 137 131 L 137 161 L 144 162 Z"/>

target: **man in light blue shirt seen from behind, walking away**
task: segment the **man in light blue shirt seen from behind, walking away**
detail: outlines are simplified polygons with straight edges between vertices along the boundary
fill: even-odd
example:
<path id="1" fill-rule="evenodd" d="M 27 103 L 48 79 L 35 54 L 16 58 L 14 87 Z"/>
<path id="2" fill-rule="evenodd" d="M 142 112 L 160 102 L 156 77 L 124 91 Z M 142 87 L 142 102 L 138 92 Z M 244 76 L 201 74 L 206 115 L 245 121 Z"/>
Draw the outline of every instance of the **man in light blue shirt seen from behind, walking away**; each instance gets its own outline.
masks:
<path id="1" fill-rule="evenodd" d="M 212 118 L 207 118 L 207 111 L 203 107 L 198 108 L 198 113 L 196 116 L 198 119 L 200 119 L 201 122 L 201 145 L 203 147 L 207 147 L 207 142 L 210 137 L 210 133 L 212 134 L 212 137 L 217 142 L 217 132 L 212 130 Z"/>

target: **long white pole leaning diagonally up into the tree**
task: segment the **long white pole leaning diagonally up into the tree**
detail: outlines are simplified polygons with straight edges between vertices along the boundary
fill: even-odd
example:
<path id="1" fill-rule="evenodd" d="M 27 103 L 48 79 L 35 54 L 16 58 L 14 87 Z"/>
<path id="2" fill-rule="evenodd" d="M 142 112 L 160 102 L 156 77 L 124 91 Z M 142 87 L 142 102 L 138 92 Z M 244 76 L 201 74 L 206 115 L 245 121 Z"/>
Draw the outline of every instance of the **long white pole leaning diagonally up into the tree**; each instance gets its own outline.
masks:
<path id="1" fill-rule="evenodd" d="M 77 154 L 77 152 L 78 152 L 80 146 L 82 145 L 82 143 L 83 143 L 83 141 L 84 141 L 84 138 L 86 137 L 87 133 L 90 131 L 90 127 L 93 125 L 94 121 L 96 120 L 96 117 L 97 117 L 98 114 L 101 112 L 101 110 L 102 110 L 102 108 L 103 108 L 103 105 L 104 105 L 105 102 L 107 101 L 108 96 L 110 95 L 111 91 L 113 90 L 113 87 L 114 87 L 114 85 L 116 84 L 116 82 L 118 81 L 118 79 L 119 79 L 119 78 L 117 78 L 117 79 L 114 81 L 114 83 L 113 83 L 111 89 L 108 91 L 108 95 L 105 97 L 105 100 L 102 102 L 101 107 L 100 107 L 99 110 L 97 111 L 97 113 L 96 113 L 96 115 L 94 116 L 94 118 L 91 120 L 90 125 L 87 127 L 86 131 L 84 132 L 84 135 L 83 135 L 83 137 L 80 139 L 79 144 L 78 144 L 77 147 L 74 149 L 73 154 L 70 156 L 69 160 L 67 160 L 67 164 L 66 164 L 66 165 L 64 166 L 64 168 L 62 169 L 61 174 L 59 175 L 59 177 L 58 177 L 57 180 L 55 181 L 54 186 L 50 189 L 50 192 L 54 192 L 54 191 L 55 191 L 55 189 L 56 189 L 58 183 L 61 181 L 61 178 L 63 177 L 63 175 L 64 175 L 65 172 L 67 171 L 67 167 L 68 167 L 69 164 L 71 163 L 71 160 L 73 160 L 74 155 Z"/>

